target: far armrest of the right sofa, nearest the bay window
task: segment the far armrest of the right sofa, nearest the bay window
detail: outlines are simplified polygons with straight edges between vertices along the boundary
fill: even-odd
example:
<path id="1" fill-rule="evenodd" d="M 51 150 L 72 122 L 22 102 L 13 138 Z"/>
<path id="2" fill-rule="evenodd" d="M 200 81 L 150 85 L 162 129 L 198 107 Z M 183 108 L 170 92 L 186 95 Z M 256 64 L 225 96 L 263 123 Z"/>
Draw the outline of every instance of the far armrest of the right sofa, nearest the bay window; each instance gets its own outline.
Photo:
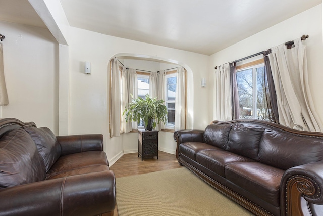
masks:
<path id="1" fill-rule="evenodd" d="M 179 159 L 179 145 L 186 142 L 203 142 L 204 130 L 191 129 L 179 130 L 174 132 L 176 141 L 176 158 Z"/>

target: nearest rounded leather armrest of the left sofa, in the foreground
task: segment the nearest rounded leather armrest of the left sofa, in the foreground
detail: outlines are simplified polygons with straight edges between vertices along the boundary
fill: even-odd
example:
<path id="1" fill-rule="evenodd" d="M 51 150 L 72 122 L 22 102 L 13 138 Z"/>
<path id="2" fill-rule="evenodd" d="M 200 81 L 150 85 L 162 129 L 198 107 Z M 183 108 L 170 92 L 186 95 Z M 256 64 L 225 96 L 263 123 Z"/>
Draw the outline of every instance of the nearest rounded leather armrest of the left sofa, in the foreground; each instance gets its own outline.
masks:
<path id="1" fill-rule="evenodd" d="M 44 180 L 0 190 L 0 216 L 97 215 L 116 206 L 112 170 Z"/>

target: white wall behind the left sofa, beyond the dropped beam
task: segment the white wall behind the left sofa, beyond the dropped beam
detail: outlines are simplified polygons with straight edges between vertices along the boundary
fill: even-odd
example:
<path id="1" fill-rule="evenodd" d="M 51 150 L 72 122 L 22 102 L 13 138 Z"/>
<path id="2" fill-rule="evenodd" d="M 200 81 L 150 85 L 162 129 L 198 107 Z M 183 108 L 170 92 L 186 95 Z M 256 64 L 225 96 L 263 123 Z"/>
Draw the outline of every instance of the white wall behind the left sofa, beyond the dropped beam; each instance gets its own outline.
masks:
<path id="1" fill-rule="evenodd" d="M 47 29 L 0 21 L 9 105 L 1 118 L 58 132 L 58 44 Z"/>

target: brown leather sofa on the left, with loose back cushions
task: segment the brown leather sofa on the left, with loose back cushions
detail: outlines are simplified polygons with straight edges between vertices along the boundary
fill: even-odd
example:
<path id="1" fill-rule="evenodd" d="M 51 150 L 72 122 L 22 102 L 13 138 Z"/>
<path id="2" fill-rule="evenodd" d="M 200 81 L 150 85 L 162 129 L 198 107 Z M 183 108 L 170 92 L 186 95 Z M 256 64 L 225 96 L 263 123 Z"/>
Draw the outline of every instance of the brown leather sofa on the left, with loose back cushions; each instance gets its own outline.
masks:
<path id="1" fill-rule="evenodd" d="M 56 137 L 0 120 L 0 215 L 113 215 L 115 175 L 102 135 Z"/>

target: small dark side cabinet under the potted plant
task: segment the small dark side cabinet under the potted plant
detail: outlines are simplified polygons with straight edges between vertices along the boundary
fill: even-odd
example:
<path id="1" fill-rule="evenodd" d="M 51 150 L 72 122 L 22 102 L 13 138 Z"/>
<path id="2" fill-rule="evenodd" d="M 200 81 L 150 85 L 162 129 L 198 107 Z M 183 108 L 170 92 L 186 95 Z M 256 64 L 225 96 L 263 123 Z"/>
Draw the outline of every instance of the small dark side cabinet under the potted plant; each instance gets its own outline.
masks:
<path id="1" fill-rule="evenodd" d="M 154 156 L 158 159 L 158 131 L 138 130 L 138 132 L 138 157 L 141 156 L 141 161 Z"/>

